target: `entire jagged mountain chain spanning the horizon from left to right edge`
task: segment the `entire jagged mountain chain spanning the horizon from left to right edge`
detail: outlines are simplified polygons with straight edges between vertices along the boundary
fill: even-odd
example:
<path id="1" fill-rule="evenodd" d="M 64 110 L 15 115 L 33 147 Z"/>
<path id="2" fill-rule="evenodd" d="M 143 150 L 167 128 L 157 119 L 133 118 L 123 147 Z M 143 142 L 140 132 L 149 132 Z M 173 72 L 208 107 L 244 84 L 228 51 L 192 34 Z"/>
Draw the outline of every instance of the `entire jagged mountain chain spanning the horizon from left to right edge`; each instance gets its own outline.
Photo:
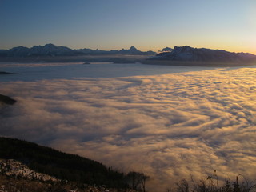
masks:
<path id="1" fill-rule="evenodd" d="M 249 53 L 234 53 L 226 50 L 211 50 L 206 48 L 193 48 L 190 46 L 174 46 L 163 48 L 160 53 L 153 51 L 143 52 L 131 46 L 129 50 L 91 50 L 91 49 L 78 49 L 72 50 L 66 46 L 55 46 L 54 44 L 46 44 L 45 46 L 33 46 L 27 48 L 24 46 L 14 47 L 10 50 L 0 50 L 0 58 L 56 58 L 60 59 L 62 56 L 82 56 L 93 55 L 96 58 L 101 55 L 112 57 L 114 55 L 143 55 L 150 57 L 144 63 L 150 61 L 164 61 L 164 62 L 219 62 L 219 63 L 240 63 L 242 65 L 256 62 L 256 55 Z M 112 55 L 112 56 L 111 56 Z M 59 57 L 57 57 L 59 56 Z M 77 57 L 74 57 L 77 58 Z M 112 59 L 112 60 L 111 60 Z M 119 58 L 108 58 L 107 62 L 123 62 Z M 104 60 L 105 61 L 105 60 Z M 175 64 L 174 63 L 174 64 Z M 170 64 L 170 63 L 169 63 Z M 235 65 L 237 65 L 235 64 Z"/>

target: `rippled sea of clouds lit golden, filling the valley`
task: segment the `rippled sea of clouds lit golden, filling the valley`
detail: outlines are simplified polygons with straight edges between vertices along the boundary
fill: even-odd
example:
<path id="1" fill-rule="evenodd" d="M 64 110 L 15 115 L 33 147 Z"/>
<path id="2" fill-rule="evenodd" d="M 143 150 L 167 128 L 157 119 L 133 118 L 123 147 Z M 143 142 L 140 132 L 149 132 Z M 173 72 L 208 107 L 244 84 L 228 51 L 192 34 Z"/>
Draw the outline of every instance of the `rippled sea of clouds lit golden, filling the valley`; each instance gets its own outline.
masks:
<path id="1" fill-rule="evenodd" d="M 1 82 L 0 135 L 150 175 L 256 178 L 256 68 Z"/>

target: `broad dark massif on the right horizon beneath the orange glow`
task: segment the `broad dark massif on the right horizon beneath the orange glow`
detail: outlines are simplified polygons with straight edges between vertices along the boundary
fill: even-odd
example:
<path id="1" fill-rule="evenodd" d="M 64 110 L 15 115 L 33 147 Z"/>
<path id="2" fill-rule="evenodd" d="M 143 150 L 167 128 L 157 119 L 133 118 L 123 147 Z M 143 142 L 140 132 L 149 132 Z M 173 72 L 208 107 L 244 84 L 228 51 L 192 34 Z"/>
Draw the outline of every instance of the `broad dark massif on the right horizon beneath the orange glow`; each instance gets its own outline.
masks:
<path id="1" fill-rule="evenodd" d="M 232 53 L 226 50 L 210 50 L 190 46 L 174 46 L 174 50 L 157 54 L 151 60 L 168 60 L 182 62 L 253 62 L 256 55 Z"/>

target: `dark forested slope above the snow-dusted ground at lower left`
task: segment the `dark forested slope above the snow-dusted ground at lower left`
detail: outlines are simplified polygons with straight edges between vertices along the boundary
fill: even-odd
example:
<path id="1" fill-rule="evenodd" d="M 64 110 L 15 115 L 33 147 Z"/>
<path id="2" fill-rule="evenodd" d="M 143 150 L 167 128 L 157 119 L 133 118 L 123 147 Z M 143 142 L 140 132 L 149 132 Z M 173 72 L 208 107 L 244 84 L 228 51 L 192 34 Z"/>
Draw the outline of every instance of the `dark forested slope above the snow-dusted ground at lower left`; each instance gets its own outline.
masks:
<path id="1" fill-rule="evenodd" d="M 0 137 L 0 158 L 18 160 L 31 170 L 68 181 L 115 188 L 126 186 L 124 174 L 111 170 L 100 162 L 33 142 Z"/>

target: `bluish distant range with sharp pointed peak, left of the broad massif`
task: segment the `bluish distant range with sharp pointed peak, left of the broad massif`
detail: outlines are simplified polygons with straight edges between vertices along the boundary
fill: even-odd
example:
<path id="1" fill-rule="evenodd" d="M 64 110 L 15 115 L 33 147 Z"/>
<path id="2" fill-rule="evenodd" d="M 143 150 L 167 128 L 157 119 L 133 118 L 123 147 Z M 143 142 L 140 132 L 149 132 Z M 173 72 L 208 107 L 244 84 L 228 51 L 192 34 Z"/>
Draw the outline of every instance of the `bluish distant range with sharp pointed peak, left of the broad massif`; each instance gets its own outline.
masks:
<path id="1" fill-rule="evenodd" d="M 72 50 L 66 46 L 55 46 L 54 44 L 46 44 L 45 46 L 33 46 L 27 48 L 25 46 L 17 46 L 10 50 L 0 50 L 1 58 L 24 58 L 24 57 L 38 57 L 38 56 L 79 56 L 79 55 L 102 55 L 102 54 L 132 54 L 132 55 L 150 55 L 156 54 L 149 50 L 146 52 L 136 49 L 131 46 L 129 50 L 91 50 L 78 49 Z"/>

